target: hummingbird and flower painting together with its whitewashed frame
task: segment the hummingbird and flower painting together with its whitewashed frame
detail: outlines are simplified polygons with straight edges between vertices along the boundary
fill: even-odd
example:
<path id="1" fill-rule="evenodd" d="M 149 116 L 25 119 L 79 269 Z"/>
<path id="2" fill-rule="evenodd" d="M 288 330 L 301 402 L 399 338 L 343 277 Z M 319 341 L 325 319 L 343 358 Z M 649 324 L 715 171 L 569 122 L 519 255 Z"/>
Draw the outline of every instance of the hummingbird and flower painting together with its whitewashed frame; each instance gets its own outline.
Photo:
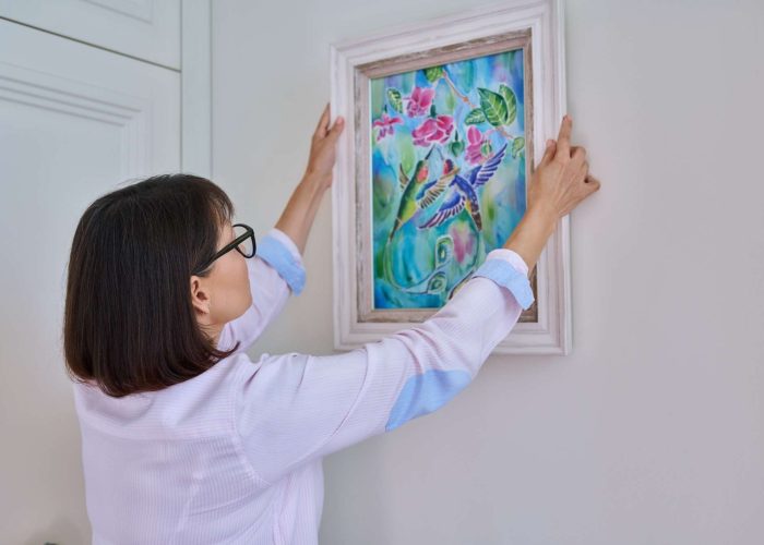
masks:
<path id="1" fill-rule="evenodd" d="M 331 47 L 347 120 L 332 189 L 338 349 L 442 307 L 525 214 L 564 114 L 559 0 L 502 3 Z M 536 301 L 494 353 L 565 354 L 569 218 L 530 272 Z"/>

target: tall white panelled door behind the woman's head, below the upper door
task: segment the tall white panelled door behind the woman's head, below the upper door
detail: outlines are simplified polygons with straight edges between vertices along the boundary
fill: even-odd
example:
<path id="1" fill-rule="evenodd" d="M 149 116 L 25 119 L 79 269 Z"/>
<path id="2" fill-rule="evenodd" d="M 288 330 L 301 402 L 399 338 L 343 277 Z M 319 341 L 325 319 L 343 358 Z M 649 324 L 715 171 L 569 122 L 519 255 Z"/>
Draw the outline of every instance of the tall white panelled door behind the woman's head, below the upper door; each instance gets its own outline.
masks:
<path id="1" fill-rule="evenodd" d="M 180 170 L 180 72 L 0 20 L 0 543 L 89 543 L 63 366 L 87 205 Z"/>

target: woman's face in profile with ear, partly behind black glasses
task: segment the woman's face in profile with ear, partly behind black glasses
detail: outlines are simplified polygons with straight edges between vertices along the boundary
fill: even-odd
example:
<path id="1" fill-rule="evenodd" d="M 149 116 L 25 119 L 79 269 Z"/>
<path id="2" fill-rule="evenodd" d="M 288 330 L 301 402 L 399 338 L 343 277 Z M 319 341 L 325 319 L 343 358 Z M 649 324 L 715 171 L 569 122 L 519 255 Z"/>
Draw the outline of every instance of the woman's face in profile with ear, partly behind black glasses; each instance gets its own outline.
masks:
<path id="1" fill-rule="evenodd" d="M 226 223 L 217 249 L 235 239 L 234 228 Z M 215 259 L 206 277 L 191 276 L 191 301 L 196 319 L 215 340 L 228 322 L 241 316 L 252 304 L 247 258 L 236 250 Z"/>

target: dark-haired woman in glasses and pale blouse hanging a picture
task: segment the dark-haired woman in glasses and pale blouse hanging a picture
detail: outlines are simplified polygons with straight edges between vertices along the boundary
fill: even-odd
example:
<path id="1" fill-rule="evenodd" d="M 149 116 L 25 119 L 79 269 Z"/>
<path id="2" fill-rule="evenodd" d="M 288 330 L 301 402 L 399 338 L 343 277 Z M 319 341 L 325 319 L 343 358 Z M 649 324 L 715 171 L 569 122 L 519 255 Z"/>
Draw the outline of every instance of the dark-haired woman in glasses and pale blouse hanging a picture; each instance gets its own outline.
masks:
<path id="1" fill-rule="evenodd" d="M 322 458 L 442 407 L 533 303 L 529 268 L 599 189 L 571 126 L 548 141 L 512 237 L 446 305 L 334 355 L 244 352 L 302 289 L 343 129 L 329 107 L 256 256 L 208 180 L 159 175 L 95 201 L 74 234 L 64 317 L 93 543 L 317 543 Z"/>

